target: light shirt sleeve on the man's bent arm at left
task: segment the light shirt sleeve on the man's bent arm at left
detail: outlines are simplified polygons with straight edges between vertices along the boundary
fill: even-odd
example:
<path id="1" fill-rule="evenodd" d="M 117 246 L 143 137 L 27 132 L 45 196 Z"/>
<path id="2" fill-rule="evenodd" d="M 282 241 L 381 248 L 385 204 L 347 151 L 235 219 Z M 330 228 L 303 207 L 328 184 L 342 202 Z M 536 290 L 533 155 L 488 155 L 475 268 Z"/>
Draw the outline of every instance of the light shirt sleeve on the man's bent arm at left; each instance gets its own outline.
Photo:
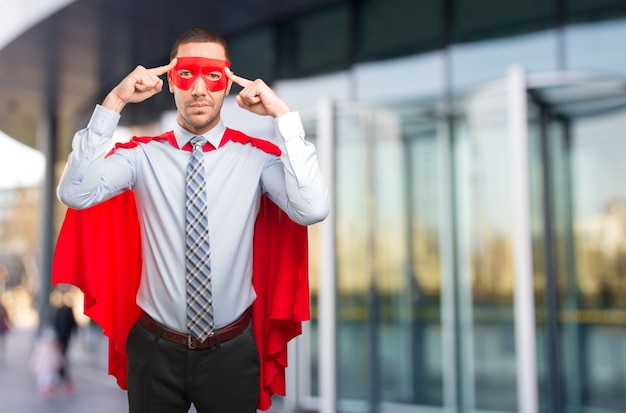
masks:
<path id="1" fill-rule="evenodd" d="M 133 170 L 127 162 L 105 155 L 120 114 L 97 105 L 85 129 L 72 140 L 72 152 L 57 187 L 57 197 L 74 209 L 84 209 L 130 188 Z"/>

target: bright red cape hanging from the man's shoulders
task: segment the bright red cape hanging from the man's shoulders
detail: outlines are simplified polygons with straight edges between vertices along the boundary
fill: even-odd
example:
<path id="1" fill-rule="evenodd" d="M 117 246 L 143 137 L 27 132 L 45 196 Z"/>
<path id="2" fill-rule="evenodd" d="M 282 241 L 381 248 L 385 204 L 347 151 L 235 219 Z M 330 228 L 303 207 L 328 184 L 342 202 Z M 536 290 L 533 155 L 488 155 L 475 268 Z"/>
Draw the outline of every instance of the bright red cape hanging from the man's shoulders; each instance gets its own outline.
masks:
<path id="1" fill-rule="evenodd" d="M 173 142 L 173 133 L 137 138 Z M 227 129 L 222 139 L 252 143 L 280 154 L 273 144 Z M 278 151 L 278 152 L 276 152 Z M 141 240 L 135 199 L 126 191 L 85 210 L 68 209 L 52 262 L 52 284 L 68 283 L 85 294 L 85 314 L 109 338 L 109 374 L 126 389 L 126 338 L 137 320 Z M 285 395 L 287 343 L 310 316 L 306 227 L 291 221 L 263 196 L 254 232 L 252 283 L 257 299 L 253 325 L 261 355 L 258 408 L 270 408 L 272 394 Z"/>

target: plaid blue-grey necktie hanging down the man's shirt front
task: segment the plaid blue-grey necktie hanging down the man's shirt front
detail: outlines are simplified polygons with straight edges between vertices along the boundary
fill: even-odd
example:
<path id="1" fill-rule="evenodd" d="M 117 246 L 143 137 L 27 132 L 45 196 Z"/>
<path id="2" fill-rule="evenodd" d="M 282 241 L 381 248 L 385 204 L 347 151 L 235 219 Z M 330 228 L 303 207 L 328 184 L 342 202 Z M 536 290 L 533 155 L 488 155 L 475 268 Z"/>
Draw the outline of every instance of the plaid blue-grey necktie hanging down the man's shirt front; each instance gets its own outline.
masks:
<path id="1" fill-rule="evenodd" d="M 206 139 L 194 136 L 189 142 L 193 146 L 193 151 L 187 167 L 185 200 L 187 327 L 191 335 L 204 341 L 214 329 L 211 247 L 202 154 Z"/>

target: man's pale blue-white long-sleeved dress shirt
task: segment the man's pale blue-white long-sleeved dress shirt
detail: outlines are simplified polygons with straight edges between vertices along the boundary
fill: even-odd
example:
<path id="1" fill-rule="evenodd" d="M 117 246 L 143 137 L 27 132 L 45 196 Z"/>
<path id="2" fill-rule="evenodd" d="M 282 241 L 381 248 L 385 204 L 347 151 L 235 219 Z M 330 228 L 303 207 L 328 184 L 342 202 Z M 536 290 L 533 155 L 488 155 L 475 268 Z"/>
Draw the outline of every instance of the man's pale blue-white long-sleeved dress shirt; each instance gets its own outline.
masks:
<path id="1" fill-rule="evenodd" d="M 135 194 L 143 268 L 137 304 L 169 328 L 186 332 L 185 173 L 193 135 L 177 125 L 178 147 L 152 140 L 105 157 L 120 115 L 98 105 L 86 129 L 72 141 L 57 195 L 75 209 L 88 208 L 126 190 Z M 275 120 L 280 157 L 251 144 L 219 143 L 219 123 L 203 136 L 216 328 L 233 322 L 254 301 L 252 238 L 260 197 L 268 194 L 302 225 L 328 214 L 327 189 L 314 146 L 304 140 L 297 112 Z M 103 251 L 105 253 L 105 251 Z"/>

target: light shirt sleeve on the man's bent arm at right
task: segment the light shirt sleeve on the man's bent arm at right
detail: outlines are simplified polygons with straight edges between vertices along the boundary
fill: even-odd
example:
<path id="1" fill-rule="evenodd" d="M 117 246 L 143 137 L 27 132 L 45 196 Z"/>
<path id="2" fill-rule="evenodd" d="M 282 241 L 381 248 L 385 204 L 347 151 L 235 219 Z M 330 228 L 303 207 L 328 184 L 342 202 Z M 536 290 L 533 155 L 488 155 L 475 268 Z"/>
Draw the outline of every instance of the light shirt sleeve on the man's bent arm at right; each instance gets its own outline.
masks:
<path id="1" fill-rule="evenodd" d="M 328 191 L 315 146 L 304 139 L 298 112 L 287 113 L 274 122 L 282 162 L 264 172 L 264 189 L 293 221 L 301 225 L 319 222 L 328 215 Z"/>

